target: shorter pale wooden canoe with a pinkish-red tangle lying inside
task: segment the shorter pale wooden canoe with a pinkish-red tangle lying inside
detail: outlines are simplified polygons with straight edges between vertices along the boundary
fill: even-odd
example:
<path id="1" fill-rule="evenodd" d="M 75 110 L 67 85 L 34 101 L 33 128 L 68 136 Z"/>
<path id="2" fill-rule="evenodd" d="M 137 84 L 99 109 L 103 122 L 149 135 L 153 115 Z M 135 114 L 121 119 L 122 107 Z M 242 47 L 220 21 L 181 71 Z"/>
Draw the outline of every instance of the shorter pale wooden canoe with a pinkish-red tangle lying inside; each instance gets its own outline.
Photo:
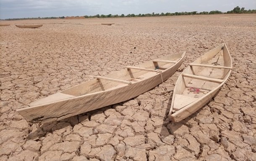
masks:
<path id="1" fill-rule="evenodd" d="M 225 43 L 207 52 L 180 74 L 175 84 L 169 116 L 179 122 L 209 102 L 227 81 L 232 60 Z"/>

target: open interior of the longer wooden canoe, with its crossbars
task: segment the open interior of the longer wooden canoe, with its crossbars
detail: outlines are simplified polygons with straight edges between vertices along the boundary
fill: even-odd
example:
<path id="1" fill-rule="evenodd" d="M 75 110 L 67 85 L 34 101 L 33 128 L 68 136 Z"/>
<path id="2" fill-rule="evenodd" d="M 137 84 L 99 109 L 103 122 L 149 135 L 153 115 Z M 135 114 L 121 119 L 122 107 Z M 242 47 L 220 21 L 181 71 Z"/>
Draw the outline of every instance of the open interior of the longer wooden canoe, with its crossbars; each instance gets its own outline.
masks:
<path id="1" fill-rule="evenodd" d="M 164 71 L 165 69 L 170 68 L 177 61 L 179 61 L 183 55 L 184 53 L 165 56 L 160 59 L 155 59 L 152 61 L 147 61 L 143 64 L 139 64 L 136 67 L 127 66 L 126 69 L 115 71 L 103 77 L 95 76 L 96 79 L 92 79 L 90 81 L 66 89 L 62 92 L 58 92 L 48 97 L 42 98 L 41 100 L 29 104 L 29 106 L 35 106 L 42 103 L 111 90 L 117 87 L 127 86 L 138 81 L 143 81 L 144 79 L 157 74 L 158 70 Z"/>

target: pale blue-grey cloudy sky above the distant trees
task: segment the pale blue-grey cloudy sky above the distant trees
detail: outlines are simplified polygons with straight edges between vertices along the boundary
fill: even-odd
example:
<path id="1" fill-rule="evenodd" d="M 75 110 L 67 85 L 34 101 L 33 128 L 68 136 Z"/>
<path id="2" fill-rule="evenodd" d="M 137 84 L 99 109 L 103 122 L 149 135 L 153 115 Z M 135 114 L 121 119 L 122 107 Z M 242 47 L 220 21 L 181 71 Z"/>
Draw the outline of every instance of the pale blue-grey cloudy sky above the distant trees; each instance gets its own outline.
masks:
<path id="1" fill-rule="evenodd" d="M 253 10 L 256 9 L 256 0 L 0 0 L 0 19 L 211 10 L 227 12 L 236 6 Z"/>

